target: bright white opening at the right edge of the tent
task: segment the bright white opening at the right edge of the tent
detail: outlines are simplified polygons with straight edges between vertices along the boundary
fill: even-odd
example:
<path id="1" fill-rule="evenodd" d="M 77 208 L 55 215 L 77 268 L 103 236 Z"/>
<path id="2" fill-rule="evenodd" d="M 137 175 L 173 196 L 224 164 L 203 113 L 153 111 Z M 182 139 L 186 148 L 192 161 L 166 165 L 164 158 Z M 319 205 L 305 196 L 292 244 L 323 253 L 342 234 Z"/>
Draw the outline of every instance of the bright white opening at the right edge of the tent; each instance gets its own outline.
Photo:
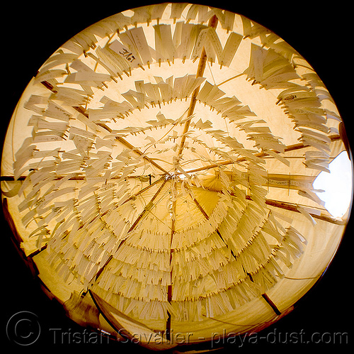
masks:
<path id="1" fill-rule="evenodd" d="M 320 172 L 314 180 L 314 189 L 323 189 L 317 192 L 326 209 L 335 218 L 341 218 L 350 207 L 353 193 L 353 171 L 346 151 L 340 153 L 330 164 L 328 172 Z"/>

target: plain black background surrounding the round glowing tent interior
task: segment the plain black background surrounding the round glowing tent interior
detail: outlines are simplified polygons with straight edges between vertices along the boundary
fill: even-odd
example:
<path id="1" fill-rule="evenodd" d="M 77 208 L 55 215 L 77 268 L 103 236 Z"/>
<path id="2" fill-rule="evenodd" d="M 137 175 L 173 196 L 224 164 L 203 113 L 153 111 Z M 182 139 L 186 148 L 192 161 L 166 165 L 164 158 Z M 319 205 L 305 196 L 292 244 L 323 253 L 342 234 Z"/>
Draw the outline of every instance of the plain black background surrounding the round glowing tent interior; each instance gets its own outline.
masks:
<path id="1" fill-rule="evenodd" d="M 23 90 L 38 68 L 60 45 L 79 31 L 101 19 L 125 9 L 152 4 L 151 1 L 15 1 L 1 7 L 1 141 L 4 140 L 8 121 Z M 353 119 L 353 17 L 350 1 L 200 1 L 199 4 L 227 9 L 261 23 L 280 35 L 314 67 L 336 101 L 347 133 L 352 140 Z M 6 6 L 5 6 L 6 5 Z M 352 146 L 353 143 L 351 142 Z M 38 284 L 33 282 L 11 244 L 9 230 L 1 217 L 1 292 L 2 314 L 1 346 L 13 350 L 35 348 L 66 348 L 101 350 L 98 344 L 53 343 L 50 328 L 63 331 L 81 331 L 64 316 L 61 306 L 48 299 Z M 353 221 L 350 221 L 343 241 L 322 279 L 313 287 L 291 314 L 266 328 L 268 333 L 319 333 L 348 332 L 349 343 L 353 316 Z M 6 323 L 18 311 L 32 311 L 38 316 L 42 333 L 30 347 L 21 347 L 6 338 Z M 270 337 L 268 337 L 270 338 Z M 280 338 L 284 339 L 285 334 Z M 326 336 L 326 338 L 329 338 Z M 225 352 L 252 350 L 316 350 L 323 344 L 266 343 L 227 345 Z M 289 341 L 288 341 L 289 342 Z M 238 343 L 238 342 L 237 342 Z M 326 348 L 348 352 L 349 345 L 326 344 Z M 106 350 L 126 353 L 130 345 L 113 345 Z M 139 348 L 137 348 L 139 349 Z M 324 348 L 323 348 L 324 349 Z M 143 350 L 144 351 L 144 350 Z"/>

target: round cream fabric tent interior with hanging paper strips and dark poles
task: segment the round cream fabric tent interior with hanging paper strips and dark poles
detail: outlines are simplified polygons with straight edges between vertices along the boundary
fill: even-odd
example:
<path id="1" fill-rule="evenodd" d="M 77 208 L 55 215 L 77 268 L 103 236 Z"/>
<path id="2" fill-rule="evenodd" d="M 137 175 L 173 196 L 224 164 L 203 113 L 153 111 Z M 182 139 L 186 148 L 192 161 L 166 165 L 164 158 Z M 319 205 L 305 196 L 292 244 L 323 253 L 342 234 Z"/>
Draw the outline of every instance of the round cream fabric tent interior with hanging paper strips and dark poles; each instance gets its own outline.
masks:
<path id="1" fill-rule="evenodd" d="M 312 187 L 345 150 L 340 122 L 312 67 L 266 28 L 146 6 L 40 67 L 8 127 L 1 190 L 21 248 L 79 323 L 159 333 L 142 340 L 154 349 L 176 345 L 169 329 L 190 343 L 256 331 L 341 240 L 346 220 Z"/>

